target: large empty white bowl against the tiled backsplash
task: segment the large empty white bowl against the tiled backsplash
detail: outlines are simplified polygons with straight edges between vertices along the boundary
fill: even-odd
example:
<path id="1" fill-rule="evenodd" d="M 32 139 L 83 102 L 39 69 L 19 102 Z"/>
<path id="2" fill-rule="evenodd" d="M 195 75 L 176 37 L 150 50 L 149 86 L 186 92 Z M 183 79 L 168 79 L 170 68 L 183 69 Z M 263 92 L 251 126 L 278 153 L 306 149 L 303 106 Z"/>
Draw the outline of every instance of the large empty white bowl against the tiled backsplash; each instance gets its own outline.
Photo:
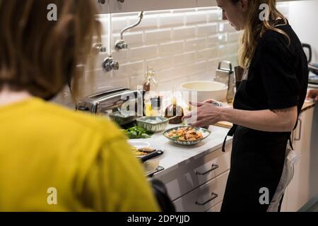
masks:
<path id="1" fill-rule="evenodd" d="M 226 102 L 228 85 L 214 81 L 190 81 L 183 83 L 181 85 L 181 90 L 189 92 L 189 96 L 187 97 L 189 101 L 204 102 L 204 100 L 213 99 L 220 102 Z M 196 96 L 193 92 L 196 93 L 197 100 L 192 100 Z"/>

